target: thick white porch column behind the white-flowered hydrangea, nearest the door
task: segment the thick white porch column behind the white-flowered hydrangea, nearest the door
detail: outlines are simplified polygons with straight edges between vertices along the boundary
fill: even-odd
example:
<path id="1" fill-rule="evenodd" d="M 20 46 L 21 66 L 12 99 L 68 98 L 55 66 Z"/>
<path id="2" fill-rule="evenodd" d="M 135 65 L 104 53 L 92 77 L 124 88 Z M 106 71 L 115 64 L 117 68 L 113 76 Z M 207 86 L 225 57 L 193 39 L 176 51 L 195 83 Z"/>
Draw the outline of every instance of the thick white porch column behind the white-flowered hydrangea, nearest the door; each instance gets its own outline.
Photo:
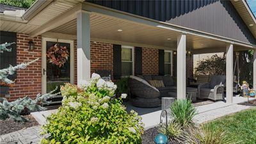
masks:
<path id="1" fill-rule="evenodd" d="M 77 13 L 77 84 L 90 79 L 90 14 Z"/>

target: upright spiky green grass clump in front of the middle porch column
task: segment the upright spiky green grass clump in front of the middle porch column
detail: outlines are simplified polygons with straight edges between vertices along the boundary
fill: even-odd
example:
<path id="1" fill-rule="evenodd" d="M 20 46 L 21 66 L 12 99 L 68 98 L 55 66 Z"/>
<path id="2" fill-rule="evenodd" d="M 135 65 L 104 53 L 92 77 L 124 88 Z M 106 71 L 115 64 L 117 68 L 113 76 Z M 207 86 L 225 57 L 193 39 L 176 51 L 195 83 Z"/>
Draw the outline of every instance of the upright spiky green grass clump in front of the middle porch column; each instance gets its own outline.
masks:
<path id="1" fill-rule="evenodd" d="M 192 119 L 196 115 L 196 108 L 193 106 L 191 100 L 175 100 L 170 109 L 173 121 L 177 122 L 181 127 L 193 124 Z"/>

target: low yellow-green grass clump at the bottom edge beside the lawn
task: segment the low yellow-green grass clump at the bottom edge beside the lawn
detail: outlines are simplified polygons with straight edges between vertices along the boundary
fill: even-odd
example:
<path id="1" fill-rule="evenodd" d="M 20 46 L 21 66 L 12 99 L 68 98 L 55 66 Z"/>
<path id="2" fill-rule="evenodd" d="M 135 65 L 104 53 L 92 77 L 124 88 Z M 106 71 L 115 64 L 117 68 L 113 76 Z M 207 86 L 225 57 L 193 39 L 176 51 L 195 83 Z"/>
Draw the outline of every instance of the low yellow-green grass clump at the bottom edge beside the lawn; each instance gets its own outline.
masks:
<path id="1" fill-rule="evenodd" d="M 223 129 L 213 130 L 212 127 L 189 127 L 182 134 L 184 141 L 191 144 L 234 144 L 235 137 L 227 135 Z"/>

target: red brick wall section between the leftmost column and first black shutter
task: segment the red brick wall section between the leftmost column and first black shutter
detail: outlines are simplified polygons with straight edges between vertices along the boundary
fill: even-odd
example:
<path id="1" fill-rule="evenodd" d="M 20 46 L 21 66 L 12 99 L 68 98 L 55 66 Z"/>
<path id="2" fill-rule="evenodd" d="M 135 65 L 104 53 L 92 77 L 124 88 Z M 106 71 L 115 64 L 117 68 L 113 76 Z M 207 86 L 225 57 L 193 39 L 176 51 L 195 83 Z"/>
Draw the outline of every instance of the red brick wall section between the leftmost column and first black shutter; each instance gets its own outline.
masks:
<path id="1" fill-rule="evenodd" d="M 111 71 L 113 79 L 113 44 L 91 42 L 91 74 L 97 70 Z"/>

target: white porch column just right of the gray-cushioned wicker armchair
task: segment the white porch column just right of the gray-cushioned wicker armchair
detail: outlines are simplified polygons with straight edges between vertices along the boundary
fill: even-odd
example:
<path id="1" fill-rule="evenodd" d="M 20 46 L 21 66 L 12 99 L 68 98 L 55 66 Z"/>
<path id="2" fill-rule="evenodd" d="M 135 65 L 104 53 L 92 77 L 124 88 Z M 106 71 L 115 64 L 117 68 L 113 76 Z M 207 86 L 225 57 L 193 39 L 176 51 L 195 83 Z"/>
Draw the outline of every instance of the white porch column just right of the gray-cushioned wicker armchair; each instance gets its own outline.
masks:
<path id="1" fill-rule="evenodd" d="M 227 45 L 226 56 L 226 97 L 227 102 L 233 102 L 233 44 Z"/>

